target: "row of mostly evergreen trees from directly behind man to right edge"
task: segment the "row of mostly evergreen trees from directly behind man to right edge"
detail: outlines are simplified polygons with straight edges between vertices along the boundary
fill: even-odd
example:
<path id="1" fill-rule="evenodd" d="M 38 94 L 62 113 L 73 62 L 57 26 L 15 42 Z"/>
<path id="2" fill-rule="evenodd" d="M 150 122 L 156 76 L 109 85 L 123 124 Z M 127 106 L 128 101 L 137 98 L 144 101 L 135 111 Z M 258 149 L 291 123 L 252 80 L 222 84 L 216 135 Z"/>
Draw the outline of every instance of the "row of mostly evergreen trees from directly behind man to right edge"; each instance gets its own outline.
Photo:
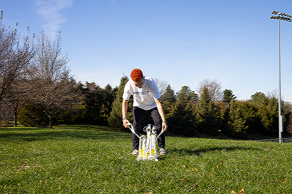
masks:
<path id="1" fill-rule="evenodd" d="M 109 125 L 117 129 L 122 128 L 121 102 L 127 81 L 126 76 L 121 79 L 108 119 Z M 185 136 L 196 136 L 198 132 L 210 135 L 225 134 L 239 139 L 244 139 L 252 133 L 268 136 L 278 133 L 276 91 L 268 93 L 267 96 L 256 92 L 251 99 L 237 100 L 232 90 L 222 91 L 221 84 L 216 79 L 201 81 L 197 91 L 198 94 L 189 86 L 183 86 L 175 93 L 169 84 L 161 91 L 169 131 Z M 284 129 L 291 134 L 291 104 L 284 101 L 281 104 Z M 132 103 L 129 101 L 127 115 L 131 115 L 131 106 Z M 129 118 L 131 119 L 131 116 Z M 151 117 L 146 115 L 142 126 L 152 122 Z"/>

